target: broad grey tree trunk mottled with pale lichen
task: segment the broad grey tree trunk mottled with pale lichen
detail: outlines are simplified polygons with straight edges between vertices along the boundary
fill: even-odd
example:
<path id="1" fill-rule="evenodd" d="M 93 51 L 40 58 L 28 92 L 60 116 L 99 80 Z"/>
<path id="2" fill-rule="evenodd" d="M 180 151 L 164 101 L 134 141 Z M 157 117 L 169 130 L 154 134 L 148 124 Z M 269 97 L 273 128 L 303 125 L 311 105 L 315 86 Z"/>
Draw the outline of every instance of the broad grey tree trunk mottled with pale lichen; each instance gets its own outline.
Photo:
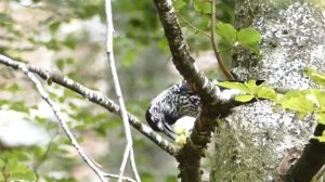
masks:
<path id="1" fill-rule="evenodd" d="M 310 3 L 278 2 L 237 1 L 236 26 L 261 32 L 261 56 L 238 49 L 232 70 L 240 79 L 264 79 L 274 88 L 315 87 L 303 72 L 325 72 L 325 11 Z M 235 108 L 222 123 L 214 134 L 210 181 L 258 182 L 272 181 L 285 156 L 301 153 L 316 121 L 261 101 Z"/>

